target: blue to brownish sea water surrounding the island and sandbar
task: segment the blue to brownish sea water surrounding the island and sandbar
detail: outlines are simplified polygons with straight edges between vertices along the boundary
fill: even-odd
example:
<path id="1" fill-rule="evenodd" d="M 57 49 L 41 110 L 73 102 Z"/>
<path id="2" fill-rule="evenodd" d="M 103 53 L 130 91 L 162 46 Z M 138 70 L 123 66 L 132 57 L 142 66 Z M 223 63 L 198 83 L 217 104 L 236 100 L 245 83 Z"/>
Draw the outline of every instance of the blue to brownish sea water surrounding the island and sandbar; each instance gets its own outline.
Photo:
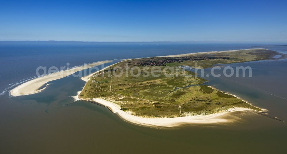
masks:
<path id="1" fill-rule="evenodd" d="M 287 46 L 274 45 L 280 44 L 0 41 L 0 153 L 286 153 L 287 59 L 225 65 L 250 66 L 252 77 L 205 77 L 209 85 L 268 110 L 268 116 L 236 112 L 241 118 L 232 123 L 168 129 L 130 124 L 106 107 L 73 102 L 70 96 L 85 82 L 72 76 L 49 82 L 40 93 L 9 96 L 9 90 L 36 77 L 39 66 L 114 60 L 108 66 L 126 58 L 251 46 L 287 54 Z"/>

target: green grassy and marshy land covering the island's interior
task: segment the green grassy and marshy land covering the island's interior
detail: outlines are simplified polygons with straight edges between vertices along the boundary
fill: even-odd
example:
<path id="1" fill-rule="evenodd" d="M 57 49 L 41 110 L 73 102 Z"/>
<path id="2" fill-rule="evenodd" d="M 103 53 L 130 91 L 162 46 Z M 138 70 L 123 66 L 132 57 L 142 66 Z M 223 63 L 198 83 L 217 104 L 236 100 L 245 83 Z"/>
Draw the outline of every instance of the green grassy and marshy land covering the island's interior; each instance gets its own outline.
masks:
<path id="1" fill-rule="evenodd" d="M 194 64 L 197 63 L 197 66 L 208 68 L 218 64 L 272 59 L 272 56 L 277 54 L 280 53 L 272 50 L 240 50 L 177 57 L 131 59 L 113 65 L 110 70 L 106 69 L 105 72 L 109 73 L 103 75 L 96 73 L 90 77 L 79 98 L 82 100 L 106 99 L 121 106 L 123 111 L 142 117 L 212 114 L 232 107 L 261 111 L 232 95 L 212 89 L 205 79 L 195 77 L 195 73 L 191 71 L 182 71 L 179 66 L 194 67 Z M 160 66 L 144 66 L 147 63 L 159 63 L 170 59 L 176 62 Z M 129 70 L 126 75 L 125 66 L 129 68 L 137 66 L 140 70 L 145 69 L 145 71 L 139 73 L 137 69 Z M 159 77 L 151 75 L 152 68 L 164 70 L 166 66 L 171 66 L 174 70 L 167 69 L 166 73 L 164 71 L 154 73 Z M 123 71 L 123 75 L 118 76 L 121 71 Z M 133 77 L 131 72 L 138 76 Z"/>

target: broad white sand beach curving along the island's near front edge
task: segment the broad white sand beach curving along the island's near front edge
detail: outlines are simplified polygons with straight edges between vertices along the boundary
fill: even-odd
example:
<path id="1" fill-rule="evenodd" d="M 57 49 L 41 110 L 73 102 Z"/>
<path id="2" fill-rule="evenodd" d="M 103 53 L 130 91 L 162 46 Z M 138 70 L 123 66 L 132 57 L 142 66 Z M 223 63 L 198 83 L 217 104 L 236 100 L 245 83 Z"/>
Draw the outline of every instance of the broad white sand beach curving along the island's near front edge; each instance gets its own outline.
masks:
<path id="1" fill-rule="evenodd" d="M 174 127 L 174 126 L 180 126 L 182 124 L 213 124 L 213 123 L 232 122 L 234 120 L 223 118 L 223 115 L 230 112 L 251 110 L 247 108 L 236 107 L 236 108 L 230 108 L 226 112 L 220 112 L 209 115 L 184 116 L 176 118 L 143 118 L 139 116 L 134 116 L 121 110 L 120 106 L 108 100 L 104 100 L 101 98 L 94 98 L 93 100 L 89 101 L 95 102 L 96 104 L 100 104 L 102 106 L 106 106 L 113 113 L 117 113 L 123 120 L 126 120 L 134 124 L 150 126 L 150 127 Z"/>

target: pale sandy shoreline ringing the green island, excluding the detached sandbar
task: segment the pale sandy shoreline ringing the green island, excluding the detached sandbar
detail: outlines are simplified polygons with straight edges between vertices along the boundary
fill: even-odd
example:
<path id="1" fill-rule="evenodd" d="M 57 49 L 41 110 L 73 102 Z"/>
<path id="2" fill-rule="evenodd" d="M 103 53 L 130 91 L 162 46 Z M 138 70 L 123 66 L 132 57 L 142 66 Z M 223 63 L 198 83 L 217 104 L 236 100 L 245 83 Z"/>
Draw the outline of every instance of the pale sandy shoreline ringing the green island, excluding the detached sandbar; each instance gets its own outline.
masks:
<path id="1" fill-rule="evenodd" d="M 241 49 L 241 50 L 250 50 L 250 49 Z M 262 50 L 262 49 L 258 48 L 258 49 L 252 49 L 252 50 Z M 263 49 L 263 50 L 268 50 L 268 49 Z M 196 53 L 178 54 L 178 55 L 171 55 L 171 56 L 186 56 L 186 55 L 193 55 L 193 54 L 206 54 L 206 53 L 215 53 L 215 52 L 235 52 L 235 51 L 238 51 L 238 50 L 196 52 Z M 127 60 L 129 60 L 129 59 L 127 59 Z M 115 63 L 115 64 L 117 64 L 117 63 Z M 115 64 L 113 64 L 113 65 L 115 65 Z M 104 69 L 109 68 L 113 65 L 107 66 Z M 102 69 L 100 71 L 103 71 L 104 69 Z M 100 71 L 97 71 L 97 72 L 90 74 L 86 77 L 82 77 L 81 79 L 87 82 L 92 75 L 94 75 Z M 216 89 L 212 86 L 209 86 L 209 87 L 211 87 L 212 89 Z M 216 89 L 216 90 L 221 91 L 219 89 Z M 223 91 L 221 91 L 221 92 L 223 92 Z M 232 96 L 238 98 L 239 100 L 242 100 L 241 98 L 237 97 L 236 95 L 233 95 L 233 94 L 230 94 L 227 92 L 223 92 L 223 93 L 232 95 Z M 77 95 L 77 96 L 79 97 L 79 95 Z M 226 118 L 224 118 L 224 115 L 231 113 L 231 112 L 242 112 L 242 111 L 251 111 L 252 110 L 249 108 L 233 107 L 233 108 L 229 108 L 228 110 L 225 110 L 223 112 L 218 112 L 218 113 L 214 113 L 214 114 L 207 114 L 207 115 L 193 115 L 193 116 L 182 116 L 182 117 L 174 117 L 174 118 L 157 118 L 157 117 L 147 118 L 147 117 L 135 116 L 131 113 L 125 112 L 125 111 L 121 110 L 121 107 L 119 105 L 117 105 L 117 104 L 115 104 L 109 100 L 103 99 L 103 98 L 93 98 L 90 100 L 85 100 L 85 99 L 79 97 L 79 99 L 107 107 L 112 113 L 116 113 L 121 119 L 123 119 L 127 122 L 141 125 L 141 126 L 148 126 L 148 127 L 176 127 L 176 126 L 181 126 L 183 124 L 216 124 L 216 123 L 233 122 L 233 121 L 235 121 L 235 119 L 226 119 Z M 248 103 L 245 100 L 242 100 L 242 101 Z M 250 103 L 248 103 L 248 104 L 250 104 Z M 263 112 L 263 111 L 265 111 L 265 109 L 262 109 L 261 112 Z"/>

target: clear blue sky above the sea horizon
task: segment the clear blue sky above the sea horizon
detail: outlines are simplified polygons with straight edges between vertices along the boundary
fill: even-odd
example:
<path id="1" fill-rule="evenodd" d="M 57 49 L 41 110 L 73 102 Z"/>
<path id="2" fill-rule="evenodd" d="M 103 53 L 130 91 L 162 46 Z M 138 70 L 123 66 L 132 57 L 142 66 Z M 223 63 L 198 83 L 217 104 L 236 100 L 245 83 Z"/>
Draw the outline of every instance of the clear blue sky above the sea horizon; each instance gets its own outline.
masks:
<path id="1" fill-rule="evenodd" d="M 286 1 L 1 1 L 0 40 L 287 42 Z"/>

